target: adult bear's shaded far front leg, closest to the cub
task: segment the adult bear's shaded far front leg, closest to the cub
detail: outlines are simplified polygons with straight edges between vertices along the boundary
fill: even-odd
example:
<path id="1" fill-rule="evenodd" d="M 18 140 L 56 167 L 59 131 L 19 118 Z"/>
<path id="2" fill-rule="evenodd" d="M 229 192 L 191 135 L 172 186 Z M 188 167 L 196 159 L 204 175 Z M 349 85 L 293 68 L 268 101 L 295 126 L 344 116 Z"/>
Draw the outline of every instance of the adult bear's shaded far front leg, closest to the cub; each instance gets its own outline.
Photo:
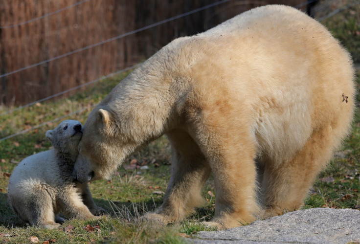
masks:
<path id="1" fill-rule="evenodd" d="M 147 219 L 163 223 L 178 222 L 195 213 L 204 204 L 201 190 L 210 175 L 210 166 L 188 133 L 173 130 L 167 133 L 172 146 L 172 173 L 164 202 Z"/>

